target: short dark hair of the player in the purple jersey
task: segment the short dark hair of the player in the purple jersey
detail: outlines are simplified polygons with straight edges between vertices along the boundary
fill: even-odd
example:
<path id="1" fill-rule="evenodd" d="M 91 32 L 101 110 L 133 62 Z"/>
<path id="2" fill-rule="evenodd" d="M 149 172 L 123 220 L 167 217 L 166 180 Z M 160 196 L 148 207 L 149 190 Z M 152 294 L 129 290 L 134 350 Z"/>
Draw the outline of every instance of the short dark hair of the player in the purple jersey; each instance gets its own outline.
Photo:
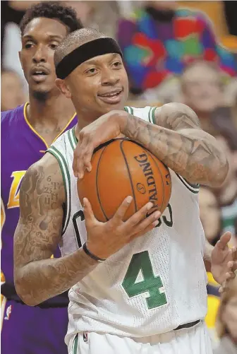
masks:
<path id="1" fill-rule="evenodd" d="M 69 28 L 69 32 L 80 30 L 83 24 L 77 18 L 75 10 L 71 6 L 63 6 L 60 1 L 42 1 L 28 8 L 20 22 L 20 32 L 23 35 L 26 26 L 34 18 L 46 17 L 61 21 Z"/>

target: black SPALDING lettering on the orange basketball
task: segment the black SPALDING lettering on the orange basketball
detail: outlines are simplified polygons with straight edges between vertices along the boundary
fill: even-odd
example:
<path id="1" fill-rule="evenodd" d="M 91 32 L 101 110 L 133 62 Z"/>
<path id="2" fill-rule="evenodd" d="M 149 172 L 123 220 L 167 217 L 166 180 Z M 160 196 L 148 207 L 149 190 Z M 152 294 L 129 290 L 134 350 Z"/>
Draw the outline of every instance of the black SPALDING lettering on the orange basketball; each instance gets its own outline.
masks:
<path id="1" fill-rule="evenodd" d="M 146 153 L 142 153 L 138 156 L 134 156 L 135 160 L 138 161 L 139 166 L 142 167 L 142 171 L 147 179 L 147 188 L 148 188 L 148 193 L 149 193 L 149 201 L 151 201 L 153 203 L 153 207 L 157 208 L 158 204 L 158 198 L 157 198 L 157 186 L 156 186 L 156 182 L 154 180 L 153 177 L 153 171 L 152 171 L 152 167 L 148 161 L 148 157 Z M 137 186 L 138 187 L 138 186 Z M 143 186 L 144 187 L 144 186 Z M 140 187 L 141 188 L 141 187 Z M 144 187 L 145 188 L 145 187 Z M 141 189 L 142 191 L 144 191 L 144 189 Z M 145 192 L 144 192 L 145 193 Z M 151 211 L 151 213 L 153 213 L 154 210 Z M 147 216 L 149 216 L 150 214 L 147 214 Z"/>

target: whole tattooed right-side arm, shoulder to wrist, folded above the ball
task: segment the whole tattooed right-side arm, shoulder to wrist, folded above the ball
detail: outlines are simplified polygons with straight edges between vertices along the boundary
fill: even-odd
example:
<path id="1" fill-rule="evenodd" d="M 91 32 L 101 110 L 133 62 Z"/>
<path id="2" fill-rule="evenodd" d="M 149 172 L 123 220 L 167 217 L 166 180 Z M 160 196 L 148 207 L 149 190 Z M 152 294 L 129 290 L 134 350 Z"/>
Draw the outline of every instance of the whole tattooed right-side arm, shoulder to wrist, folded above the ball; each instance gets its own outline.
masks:
<path id="1" fill-rule="evenodd" d="M 229 164 L 217 141 L 203 131 L 190 107 L 171 103 L 155 111 L 156 126 L 129 115 L 122 133 L 191 183 L 218 187 Z"/>

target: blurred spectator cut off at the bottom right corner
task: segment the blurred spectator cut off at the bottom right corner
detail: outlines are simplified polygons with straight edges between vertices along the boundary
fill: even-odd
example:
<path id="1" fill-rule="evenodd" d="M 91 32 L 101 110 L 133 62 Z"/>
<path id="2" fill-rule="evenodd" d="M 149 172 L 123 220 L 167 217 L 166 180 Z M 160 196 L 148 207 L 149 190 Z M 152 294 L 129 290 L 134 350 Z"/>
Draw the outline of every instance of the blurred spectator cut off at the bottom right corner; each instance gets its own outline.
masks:
<path id="1" fill-rule="evenodd" d="M 237 354 L 237 279 L 221 297 L 217 316 L 217 334 L 219 346 L 214 354 Z"/>

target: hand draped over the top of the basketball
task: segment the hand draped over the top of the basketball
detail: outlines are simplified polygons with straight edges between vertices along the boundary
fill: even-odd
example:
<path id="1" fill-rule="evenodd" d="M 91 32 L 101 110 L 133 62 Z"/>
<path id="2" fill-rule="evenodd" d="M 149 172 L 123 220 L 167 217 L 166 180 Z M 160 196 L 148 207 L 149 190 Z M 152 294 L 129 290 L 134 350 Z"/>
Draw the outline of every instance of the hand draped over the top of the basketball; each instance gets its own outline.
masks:
<path id="1" fill-rule="evenodd" d="M 80 131 L 78 145 L 74 151 L 73 172 L 83 178 L 84 171 L 90 172 L 93 151 L 97 146 L 121 134 L 121 120 L 126 112 L 112 111 L 99 117 Z"/>

